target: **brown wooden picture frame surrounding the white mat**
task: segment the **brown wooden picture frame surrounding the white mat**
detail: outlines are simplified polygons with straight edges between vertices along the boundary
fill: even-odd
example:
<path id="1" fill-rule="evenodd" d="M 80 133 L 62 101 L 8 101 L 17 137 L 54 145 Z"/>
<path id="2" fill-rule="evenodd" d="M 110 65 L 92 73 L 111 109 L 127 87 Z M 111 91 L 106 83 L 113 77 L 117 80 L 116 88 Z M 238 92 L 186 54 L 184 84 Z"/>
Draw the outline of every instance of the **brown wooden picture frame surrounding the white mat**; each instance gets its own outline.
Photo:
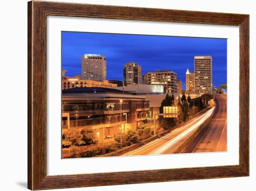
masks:
<path id="1" fill-rule="evenodd" d="M 239 26 L 239 165 L 47 176 L 47 15 Z M 29 189 L 249 176 L 249 15 L 30 1 L 27 22 Z"/>

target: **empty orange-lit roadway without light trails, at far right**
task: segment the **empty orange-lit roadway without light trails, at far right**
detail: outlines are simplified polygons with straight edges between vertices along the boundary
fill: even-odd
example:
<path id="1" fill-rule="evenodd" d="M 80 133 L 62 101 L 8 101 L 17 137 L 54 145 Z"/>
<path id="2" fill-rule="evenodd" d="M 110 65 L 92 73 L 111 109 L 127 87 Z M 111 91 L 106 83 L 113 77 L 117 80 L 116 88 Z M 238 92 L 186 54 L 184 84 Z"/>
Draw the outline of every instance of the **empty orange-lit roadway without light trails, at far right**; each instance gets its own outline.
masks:
<path id="1" fill-rule="evenodd" d="M 227 151 L 227 94 L 216 94 L 215 99 L 216 113 L 192 152 Z"/>

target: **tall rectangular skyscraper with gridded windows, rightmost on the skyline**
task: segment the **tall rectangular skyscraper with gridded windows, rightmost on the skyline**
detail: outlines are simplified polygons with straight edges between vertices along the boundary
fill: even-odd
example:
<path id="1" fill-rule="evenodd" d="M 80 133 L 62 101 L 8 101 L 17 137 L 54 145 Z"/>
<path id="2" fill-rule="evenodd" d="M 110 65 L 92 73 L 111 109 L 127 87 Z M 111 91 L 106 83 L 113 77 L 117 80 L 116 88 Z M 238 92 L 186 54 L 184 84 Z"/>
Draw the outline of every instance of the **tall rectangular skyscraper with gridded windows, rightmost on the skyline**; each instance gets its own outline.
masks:
<path id="1" fill-rule="evenodd" d="M 212 57 L 194 56 L 195 94 L 212 94 Z"/>

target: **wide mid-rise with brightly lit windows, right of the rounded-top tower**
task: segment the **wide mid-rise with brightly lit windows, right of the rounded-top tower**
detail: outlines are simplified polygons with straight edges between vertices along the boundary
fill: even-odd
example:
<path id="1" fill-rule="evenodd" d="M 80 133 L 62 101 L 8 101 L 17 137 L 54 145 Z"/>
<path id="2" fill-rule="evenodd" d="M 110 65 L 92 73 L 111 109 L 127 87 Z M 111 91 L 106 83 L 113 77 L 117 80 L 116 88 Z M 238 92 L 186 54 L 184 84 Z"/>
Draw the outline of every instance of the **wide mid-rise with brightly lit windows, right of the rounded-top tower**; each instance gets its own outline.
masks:
<path id="1" fill-rule="evenodd" d="M 177 92 L 177 73 L 171 70 L 156 70 L 143 76 L 144 84 L 162 85 L 165 92 Z"/>

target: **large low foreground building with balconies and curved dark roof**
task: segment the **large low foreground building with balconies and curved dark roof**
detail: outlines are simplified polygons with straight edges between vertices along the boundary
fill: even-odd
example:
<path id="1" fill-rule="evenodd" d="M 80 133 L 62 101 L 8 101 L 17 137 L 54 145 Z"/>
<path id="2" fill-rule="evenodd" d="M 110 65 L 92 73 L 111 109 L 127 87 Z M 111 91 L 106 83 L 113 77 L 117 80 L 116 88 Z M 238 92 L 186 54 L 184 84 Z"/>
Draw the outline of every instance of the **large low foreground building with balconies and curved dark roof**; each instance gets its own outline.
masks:
<path id="1" fill-rule="evenodd" d="M 62 132 L 68 128 L 93 130 L 99 143 L 142 125 L 149 111 L 145 96 L 110 88 L 62 90 Z"/>

